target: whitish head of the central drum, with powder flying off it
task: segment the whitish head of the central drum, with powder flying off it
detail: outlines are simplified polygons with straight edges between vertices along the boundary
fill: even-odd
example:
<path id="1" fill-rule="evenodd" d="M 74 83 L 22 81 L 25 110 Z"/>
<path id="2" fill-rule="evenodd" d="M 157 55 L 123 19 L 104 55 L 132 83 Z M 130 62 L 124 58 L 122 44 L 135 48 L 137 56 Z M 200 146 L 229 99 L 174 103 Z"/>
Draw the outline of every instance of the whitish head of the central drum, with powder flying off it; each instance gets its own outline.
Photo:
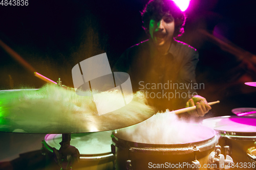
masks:
<path id="1" fill-rule="evenodd" d="M 131 131 L 130 127 L 115 130 L 114 133 L 114 136 L 119 139 L 150 144 L 184 144 L 201 142 L 208 140 L 215 135 L 216 132 L 212 128 L 189 123 L 180 123 L 177 127 L 169 127 L 169 129 L 165 129 L 165 131 L 161 128 L 152 129 L 152 133 L 143 131 L 143 128 Z"/>

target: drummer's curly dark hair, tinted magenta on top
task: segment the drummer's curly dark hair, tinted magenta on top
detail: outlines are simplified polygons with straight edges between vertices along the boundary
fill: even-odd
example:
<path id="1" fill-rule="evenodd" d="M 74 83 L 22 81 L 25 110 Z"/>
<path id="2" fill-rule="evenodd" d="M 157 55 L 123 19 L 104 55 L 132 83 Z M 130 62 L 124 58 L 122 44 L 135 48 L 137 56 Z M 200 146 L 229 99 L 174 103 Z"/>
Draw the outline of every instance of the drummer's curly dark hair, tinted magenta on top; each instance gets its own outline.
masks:
<path id="1" fill-rule="evenodd" d="M 164 14 L 171 14 L 175 21 L 174 38 L 184 33 L 186 16 L 184 12 L 171 0 L 150 0 L 141 12 L 143 29 L 148 34 L 150 20 L 160 20 Z"/>

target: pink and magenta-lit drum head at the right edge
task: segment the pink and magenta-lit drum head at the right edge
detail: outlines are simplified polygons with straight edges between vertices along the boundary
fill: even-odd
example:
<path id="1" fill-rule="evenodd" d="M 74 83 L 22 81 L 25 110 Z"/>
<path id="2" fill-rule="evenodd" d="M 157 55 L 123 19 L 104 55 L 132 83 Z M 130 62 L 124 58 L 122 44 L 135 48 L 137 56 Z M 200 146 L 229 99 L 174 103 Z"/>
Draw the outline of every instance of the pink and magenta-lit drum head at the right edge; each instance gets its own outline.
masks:
<path id="1" fill-rule="evenodd" d="M 203 125 L 231 135 L 256 135 L 256 117 L 221 116 L 203 120 Z"/>

